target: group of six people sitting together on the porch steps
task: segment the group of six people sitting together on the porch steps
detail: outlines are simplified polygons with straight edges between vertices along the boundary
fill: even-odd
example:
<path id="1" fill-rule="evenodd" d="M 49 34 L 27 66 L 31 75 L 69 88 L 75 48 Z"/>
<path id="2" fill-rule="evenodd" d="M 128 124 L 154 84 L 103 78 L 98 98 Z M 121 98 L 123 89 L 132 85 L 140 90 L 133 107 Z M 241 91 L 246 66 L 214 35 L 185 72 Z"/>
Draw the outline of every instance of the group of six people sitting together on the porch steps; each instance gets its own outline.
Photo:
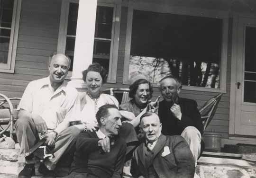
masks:
<path id="1" fill-rule="evenodd" d="M 81 95 L 64 82 L 70 64 L 66 55 L 54 54 L 49 76 L 31 81 L 24 91 L 15 124 L 19 162 L 25 163 L 18 178 L 35 175 L 36 160 L 25 153 L 42 138 L 55 156 L 38 168 L 47 177 L 194 177 L 203 126 L 196 101 L 178 96 L 178 78 L 161 79 L 164 99 L 151 102 L 151 83 L 144 75 L 131 76 L 131 100 L 119 105 L 115 97 L 101 93 L 107 71 L 99 63 L 82 72 L 87 90 Z M 68 172 L 59 174 L 66 155 L 72 157 Z"/>

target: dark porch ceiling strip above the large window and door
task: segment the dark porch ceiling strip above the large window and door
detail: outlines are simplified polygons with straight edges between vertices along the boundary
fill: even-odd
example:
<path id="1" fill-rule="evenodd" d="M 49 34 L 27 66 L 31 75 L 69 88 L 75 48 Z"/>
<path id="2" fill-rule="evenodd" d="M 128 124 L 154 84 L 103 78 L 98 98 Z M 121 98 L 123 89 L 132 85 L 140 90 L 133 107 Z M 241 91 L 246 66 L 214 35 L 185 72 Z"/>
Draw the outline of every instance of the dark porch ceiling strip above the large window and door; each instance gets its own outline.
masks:
<path id="1" fill-rule="evenodd" d="M 256 14 L 256 0 L 135 0 L 168 4 L 177 7 L 192 7 Z"/>

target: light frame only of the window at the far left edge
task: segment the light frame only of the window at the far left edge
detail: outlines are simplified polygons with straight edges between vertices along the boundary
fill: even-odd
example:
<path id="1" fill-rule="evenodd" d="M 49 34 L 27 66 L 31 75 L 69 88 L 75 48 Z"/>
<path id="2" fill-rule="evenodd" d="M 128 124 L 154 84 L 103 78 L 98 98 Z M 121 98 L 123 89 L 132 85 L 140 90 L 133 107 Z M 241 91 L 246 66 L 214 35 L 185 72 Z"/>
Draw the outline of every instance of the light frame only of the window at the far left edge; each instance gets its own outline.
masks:
<path id="1" fill-rule="evenodd" d="M 7 63 L 0 63 L 0 72 L 14 73 L 18 44 L 18 28 L 22 0 L 14 0 Z"/>

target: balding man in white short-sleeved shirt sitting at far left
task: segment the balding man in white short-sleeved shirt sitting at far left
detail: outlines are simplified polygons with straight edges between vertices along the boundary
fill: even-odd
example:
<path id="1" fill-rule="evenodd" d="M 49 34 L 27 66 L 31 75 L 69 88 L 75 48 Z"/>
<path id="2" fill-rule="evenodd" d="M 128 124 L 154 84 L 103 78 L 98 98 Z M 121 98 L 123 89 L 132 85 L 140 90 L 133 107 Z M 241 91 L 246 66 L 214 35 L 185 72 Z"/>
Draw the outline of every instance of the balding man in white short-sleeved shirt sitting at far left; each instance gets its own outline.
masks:
<path id="1" fill-rule="evenodd" d="M 55 177 L 57 161 L 73 145 L 80 130 L 71 126 L 80 118 L 80 99 L 76 89 L 67 86 L 64 79 L 69 71 L 71 60 L 64 54 L 54 54 L 49 61 L 49 76 L 31 81 L 24 91 L 15 124 L 20 145 L 19 162 L 25 167 L 18 178 L 31 178 L 35 175 L 33 158 L 24 157 L 42 137 L 53 147 L 55 158 L 48 159 L 38 169 L 44 175 Z"/>

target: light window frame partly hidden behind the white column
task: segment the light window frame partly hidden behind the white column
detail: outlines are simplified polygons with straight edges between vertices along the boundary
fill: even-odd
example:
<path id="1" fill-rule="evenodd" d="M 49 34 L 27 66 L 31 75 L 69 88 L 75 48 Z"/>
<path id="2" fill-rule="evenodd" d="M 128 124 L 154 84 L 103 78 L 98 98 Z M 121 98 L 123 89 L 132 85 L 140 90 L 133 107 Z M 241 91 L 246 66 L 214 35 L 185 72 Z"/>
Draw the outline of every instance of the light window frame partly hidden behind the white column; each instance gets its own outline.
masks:
<path id="1" fill-rule="evenodd" d="M 69 4 L 79 3 L 79 0 L 62 0 L 61 16 L 59 26 L 59 36 L 57 52 L 65 53 L 67 26 L 69 15 Z M 119 33 L 120 33 L 120 19 L 121 19 L 121 0 L 98 0 L 97 6 L 113 7 L 113 23 L 111 32 L 110 45 L 110 63 L 107 83 L 116 83 L 117 65 L 118 65 L 118 51 L 119 51 Z M 72 71 L 68 72 L 66 79 L 71 79 Z"/>

